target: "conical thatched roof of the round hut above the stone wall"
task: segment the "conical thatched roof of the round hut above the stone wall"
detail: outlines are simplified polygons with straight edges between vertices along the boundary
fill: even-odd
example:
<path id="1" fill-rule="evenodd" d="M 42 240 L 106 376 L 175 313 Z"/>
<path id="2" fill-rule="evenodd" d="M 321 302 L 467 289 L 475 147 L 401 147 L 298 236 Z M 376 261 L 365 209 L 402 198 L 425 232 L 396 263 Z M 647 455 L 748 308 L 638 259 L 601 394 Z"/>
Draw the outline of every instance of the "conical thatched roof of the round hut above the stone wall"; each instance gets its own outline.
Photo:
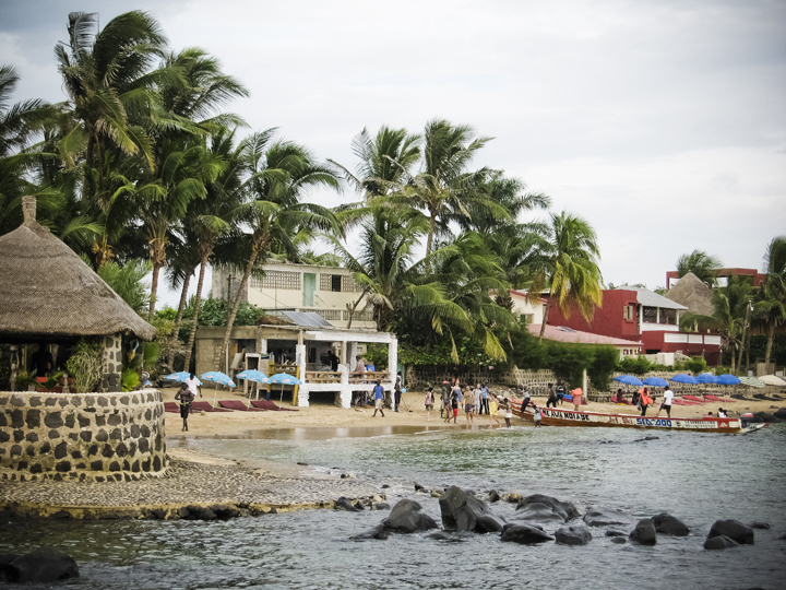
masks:
<path id="1" fill-rule="evenodd" d="M 24 197 L 24 223 L 0 236 L 0 334 L 108 335 L 143 340 L 156 330 L 82 259 L 35 221 Z"/>

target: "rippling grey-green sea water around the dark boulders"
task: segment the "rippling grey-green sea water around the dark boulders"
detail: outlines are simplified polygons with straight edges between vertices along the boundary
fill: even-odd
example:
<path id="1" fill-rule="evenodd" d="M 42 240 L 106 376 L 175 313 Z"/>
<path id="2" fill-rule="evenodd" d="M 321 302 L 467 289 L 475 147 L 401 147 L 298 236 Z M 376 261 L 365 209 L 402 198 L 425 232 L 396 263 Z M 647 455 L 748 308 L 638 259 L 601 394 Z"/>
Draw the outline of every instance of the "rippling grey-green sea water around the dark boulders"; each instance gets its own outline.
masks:
<path id="1" fill-rule="evenodd" d="M 640 518 L 668 511 L 690 528 L 688 538 L 658 538 L 654 547 L 616 545 L 596 536 L 582 547 L 502 543 L 499 535 L 424 534 L 353 541 L 386 515 L 311 510 L 199 521 L 0 523 L 0 551 L 41 543 L 73 555 L 82 577 L 69 588 L 100 589 L 437 589 L 437 588 L 691 588 L 786 587 L 786 425 L 751 436 L 644 434 L 599 428 L 431 430 L 355 437 L 353 430 L 287 430 L 277 438 L 175 441 L 189 448 L 257 458 L 305 461 L 354 471 L 388 484 L 395 503 L 417 498 L 439 521 L 437 499 L 415 494 L 460 485 L 544 493 L 590 507 L 619 509 L 632 530 Z M 327 435 L 327 436 L 325 436 Z M 513 507 L 492 505 L 513 516 Z M 764 521 L 755 545 L 706 552 L 717 519 Z M 547 530 L 556 527 L 546 527 Z"/>

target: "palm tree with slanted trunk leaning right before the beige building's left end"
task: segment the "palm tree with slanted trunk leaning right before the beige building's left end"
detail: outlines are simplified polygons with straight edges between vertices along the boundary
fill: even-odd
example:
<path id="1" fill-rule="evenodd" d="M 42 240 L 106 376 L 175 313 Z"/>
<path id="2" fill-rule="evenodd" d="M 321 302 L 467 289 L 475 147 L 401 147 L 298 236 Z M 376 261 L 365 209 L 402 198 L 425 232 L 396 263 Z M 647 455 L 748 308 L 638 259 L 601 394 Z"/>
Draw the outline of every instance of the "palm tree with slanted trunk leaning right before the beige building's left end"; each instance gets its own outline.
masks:
<path id="1" fill-rule="evenodd" d="M 241 190 L 249 200 L 233 215 L 251 232 L 242 237 L 239 249 L 246 253 L 243 274 L 227 319 L 222 352 L 229 345 L 242 293 L 259 260 L 264 261 L 273 248 L 294 251 L 291 236 L 302 227 L 340 231 L 330 210 L 300 201 L 306 191 L 314 187 L 341 190 L 338 177 L 331 168 L 318 163 L 303 146 L 283 140 L 271 143 L 274 131 L 254 133 L 241 144 L 251 172 Z"/>

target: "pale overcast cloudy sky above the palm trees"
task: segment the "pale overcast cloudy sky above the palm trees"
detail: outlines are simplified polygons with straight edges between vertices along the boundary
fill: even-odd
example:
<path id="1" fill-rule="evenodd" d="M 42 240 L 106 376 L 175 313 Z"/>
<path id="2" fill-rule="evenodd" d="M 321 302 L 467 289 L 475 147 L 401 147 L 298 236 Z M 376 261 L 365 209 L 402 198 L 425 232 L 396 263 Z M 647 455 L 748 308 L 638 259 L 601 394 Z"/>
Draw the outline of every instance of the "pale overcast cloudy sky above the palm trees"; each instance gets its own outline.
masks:
<path id="1" fill-rule="evenodd" d="M 694 249 L 761 269 L 786 234 L 786 0 L 3 0 L 13 99 L 66 98 L 69 12 L 129 10 L 249 88 L 228 106 L 249 132 L 276 127 L 319 158 L 354 169 L 364 128 L 434 118 L 495 138 L 474 165 L 586 219 L 607 284 L 665 285 Z"/>

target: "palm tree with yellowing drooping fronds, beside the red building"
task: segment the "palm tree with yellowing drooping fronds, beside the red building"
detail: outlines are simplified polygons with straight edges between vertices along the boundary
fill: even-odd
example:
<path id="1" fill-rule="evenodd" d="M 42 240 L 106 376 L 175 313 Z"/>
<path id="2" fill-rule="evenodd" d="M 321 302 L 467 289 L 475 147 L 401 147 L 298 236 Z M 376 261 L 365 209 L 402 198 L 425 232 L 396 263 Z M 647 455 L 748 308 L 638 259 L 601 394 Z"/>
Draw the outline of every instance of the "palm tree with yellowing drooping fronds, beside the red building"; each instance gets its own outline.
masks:
<path id="1" fill-rule="evenodd" d="M 592 320 L 595 307 L 603 302 L 595 229 L 582 217 L 564 211 L 559 215 L 552 213 L 550 217 L 547 248 L 534 261 L 537 274 L 532 286 L 536 293 L 544 287 L 549 290 L 540 341 L 546 331 L 551 299 L 557 299 L 565 317 L 570 317 L 571 306 L 575 305 L 587 321 Z"/>

